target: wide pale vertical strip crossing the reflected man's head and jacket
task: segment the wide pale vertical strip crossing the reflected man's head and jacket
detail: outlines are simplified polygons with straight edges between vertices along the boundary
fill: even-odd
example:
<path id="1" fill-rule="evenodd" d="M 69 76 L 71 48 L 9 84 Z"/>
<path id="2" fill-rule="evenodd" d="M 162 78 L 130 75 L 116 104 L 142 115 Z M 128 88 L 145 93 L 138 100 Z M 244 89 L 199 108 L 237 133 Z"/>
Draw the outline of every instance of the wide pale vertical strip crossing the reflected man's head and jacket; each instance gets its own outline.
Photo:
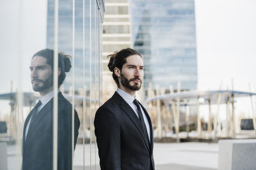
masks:
<path id="1" fill-rule="evenodd" d="M 54 1 L 53 170 L 58 169 L 58 0 Z"/>

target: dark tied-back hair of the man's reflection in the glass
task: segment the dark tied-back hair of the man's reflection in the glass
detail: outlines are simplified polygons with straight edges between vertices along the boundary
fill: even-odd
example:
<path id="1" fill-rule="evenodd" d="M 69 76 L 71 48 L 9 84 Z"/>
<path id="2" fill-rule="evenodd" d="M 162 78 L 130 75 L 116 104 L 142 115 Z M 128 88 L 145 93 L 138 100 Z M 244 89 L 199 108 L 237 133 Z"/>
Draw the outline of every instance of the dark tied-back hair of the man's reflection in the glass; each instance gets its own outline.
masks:
<path id="1" fill-rule="evenodd" d="M 33 55 L 33 57 L 35 56 L 44 57 L 47 60 L 47 64 L 49 64 L 53 70 L 54 50 L 51 50 L 48 48 L 44 50 L 40 50 L 39 52 Z M 58 77 L 58 87 L 60 87 L 60 85 L 62 85 L 63 81 L 65 80 L 65 77 L 66 77 L 65 72 L 70 71 L 70 68 L 71 68 L 70 58 L 71 58 L 70 55 L 67 55 L 63 52 L 58 53 L 58 65 L 59 65 L 59 68 L 61 69 L 61 74 Z"/>

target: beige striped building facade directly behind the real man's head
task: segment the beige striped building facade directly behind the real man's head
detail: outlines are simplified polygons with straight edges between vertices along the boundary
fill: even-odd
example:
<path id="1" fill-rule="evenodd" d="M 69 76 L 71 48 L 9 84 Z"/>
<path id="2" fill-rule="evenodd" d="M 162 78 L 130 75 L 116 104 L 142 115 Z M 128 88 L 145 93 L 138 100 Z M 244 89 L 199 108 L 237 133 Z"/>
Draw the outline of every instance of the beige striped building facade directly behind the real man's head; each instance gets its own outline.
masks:
<path id="1" fill-rule="evenodd" d="M 106 101 L 116 90 L 116 83 L 108 69 L 109 54 L 131 48 L 131 22 L 128 0 L 106 0 L 103 23 L 103 76 L 102 97 Z"/>

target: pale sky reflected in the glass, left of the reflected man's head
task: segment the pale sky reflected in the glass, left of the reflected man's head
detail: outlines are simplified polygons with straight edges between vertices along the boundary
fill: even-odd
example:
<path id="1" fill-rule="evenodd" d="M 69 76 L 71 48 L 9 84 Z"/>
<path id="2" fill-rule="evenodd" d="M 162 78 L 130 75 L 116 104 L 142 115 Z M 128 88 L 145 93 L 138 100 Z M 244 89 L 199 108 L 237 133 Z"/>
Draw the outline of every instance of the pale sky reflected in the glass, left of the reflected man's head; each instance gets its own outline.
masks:
<path id="1" fill-rule="evenodd" d="M 0 1 L 0 9 L 0 94 L 10 92 L 11 80 L 17 88 L 19 74 L 22 89 L 29 91 L 31 57 L 46 46 L 47 1 Z"/>

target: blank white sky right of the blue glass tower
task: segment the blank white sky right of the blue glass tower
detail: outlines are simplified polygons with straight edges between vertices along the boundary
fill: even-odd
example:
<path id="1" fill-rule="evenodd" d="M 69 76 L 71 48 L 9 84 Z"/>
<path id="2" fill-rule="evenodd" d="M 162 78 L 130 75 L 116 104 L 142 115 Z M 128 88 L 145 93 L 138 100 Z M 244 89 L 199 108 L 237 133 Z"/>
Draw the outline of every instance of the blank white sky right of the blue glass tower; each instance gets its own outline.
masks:
<path id="1" fill-rule="evenodd" d="M 195 0 L 200 90 L 256 89 L 256 1 Z"/>

